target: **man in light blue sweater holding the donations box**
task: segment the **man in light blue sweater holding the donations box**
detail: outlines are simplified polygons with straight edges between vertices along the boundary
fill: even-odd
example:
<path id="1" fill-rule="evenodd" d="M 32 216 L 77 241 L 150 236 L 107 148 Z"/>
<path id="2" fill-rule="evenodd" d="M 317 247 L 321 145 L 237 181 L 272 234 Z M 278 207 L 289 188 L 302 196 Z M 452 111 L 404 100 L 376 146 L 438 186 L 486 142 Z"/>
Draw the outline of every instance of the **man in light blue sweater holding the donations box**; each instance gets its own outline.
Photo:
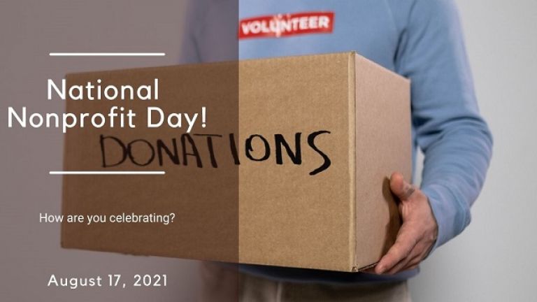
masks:
<path id="1" fill-rule="evenodd" d="M 194 2 L 183 62 L 356 50 L 410 78 L 413 154 L 419 146 L 425 156 L 421 188 L 396 171 L 392 175 L 403 224 L 369 273 L 241 266 L 241 299 L 410 301 L 406 280 L 417 274 L 420 261 L 470 222 L 492 153 L 453 1 Z"/>

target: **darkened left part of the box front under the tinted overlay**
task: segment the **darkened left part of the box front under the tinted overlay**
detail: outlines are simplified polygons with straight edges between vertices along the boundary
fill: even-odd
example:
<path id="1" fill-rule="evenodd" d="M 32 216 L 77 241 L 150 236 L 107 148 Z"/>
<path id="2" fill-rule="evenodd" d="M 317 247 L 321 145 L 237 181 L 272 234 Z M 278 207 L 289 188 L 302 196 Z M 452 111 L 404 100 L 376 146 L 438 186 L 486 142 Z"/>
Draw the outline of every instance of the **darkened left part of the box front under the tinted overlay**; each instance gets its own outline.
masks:
<path id="1" fill-rule="evenodd" d="M 159 106 L 166 113 L 199 112 L 208 106 L 210 129 L 194 129 L 196 134 L 215 133 L 227 136 L 238 132 L 238 65 L 236 63 L 200 66 L 159 67 L 68 75 L 70 85 L 88 80 L 122 85 L 142 85 L 159 79 L 157 101 L 67 101 L 67 112 L 107 113 L 110 106 L 133 108 L 139 115 L 134 129 L 84 127 L 66 134 L 64 170 L 66 171 L 152 171 L 166 175 L 65 175 L 63 212 L 67 214 L 110 215 L 120 213 L 176 213 L 174 222 L 163 224 L 62 224 L 62 246 L 87 250 L 106 250 L 129 254 L 238 261 L 238 166 L 220 160 L 218 168 L 209 161 L 206 138 L 194 136 L 202 161 L 182 157 L 184 129 L 145 127 L 147 106 Z M 216 80 L 218 79 L 218 80 Z M 201 83 L 210 84 L 210 89 Z M 155 157 L 148 166 L 136 166 L 127 160 L 120 166 L 103 168 L 99 136 L 115 136 L 124 143 L 144 139 L 156 145 L 162 139 L 174 151 L 176 140 L 180 165 L 173 164 L 163 150 L 163 165 Z M 229 148 L 222 137 L 215 139 L 215 154 L 224 157 Z M 185 138 L 185 141 L 187 139 Z M 119 149 L 107 141 L 107 158 L 115 161 Z M 192 152 L 188 143 L 187 152 Z M 136 143 L 134 157 L 150 157 L 144 143 Z"/>

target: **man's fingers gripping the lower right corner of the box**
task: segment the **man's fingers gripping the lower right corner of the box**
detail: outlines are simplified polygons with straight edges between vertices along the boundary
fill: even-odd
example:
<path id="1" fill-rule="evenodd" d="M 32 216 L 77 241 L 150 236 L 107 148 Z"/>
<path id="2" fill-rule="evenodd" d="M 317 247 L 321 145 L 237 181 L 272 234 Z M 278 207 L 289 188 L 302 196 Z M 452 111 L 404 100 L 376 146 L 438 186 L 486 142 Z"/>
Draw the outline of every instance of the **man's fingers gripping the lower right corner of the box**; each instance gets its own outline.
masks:
<path id="1" fill-rule="evenodd" d="M 413 250 L 417 243 L 417 236 L 408 225 L 403 224 L 397 239 L 390 247 L 388 252 L 380 259 L 377 266 L 375 266 L 375 273 L 381 274 L 389 271 L 392 267 L 399 263 L 402 259 L 405 259 Z"/>

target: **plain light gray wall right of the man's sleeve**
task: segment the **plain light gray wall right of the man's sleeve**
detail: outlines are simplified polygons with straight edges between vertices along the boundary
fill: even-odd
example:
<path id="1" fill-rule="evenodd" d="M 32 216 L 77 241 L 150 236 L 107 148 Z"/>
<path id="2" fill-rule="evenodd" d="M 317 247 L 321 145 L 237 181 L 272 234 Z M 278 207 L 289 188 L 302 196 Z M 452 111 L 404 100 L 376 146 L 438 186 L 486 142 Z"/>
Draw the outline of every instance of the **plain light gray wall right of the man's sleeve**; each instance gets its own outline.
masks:
<path id="1" fill-rule="evenodd" d="M 472 223 L 422 264 L 413 299 L 535 301 L 537 1 L 457 3 L 494 155 Z"/>

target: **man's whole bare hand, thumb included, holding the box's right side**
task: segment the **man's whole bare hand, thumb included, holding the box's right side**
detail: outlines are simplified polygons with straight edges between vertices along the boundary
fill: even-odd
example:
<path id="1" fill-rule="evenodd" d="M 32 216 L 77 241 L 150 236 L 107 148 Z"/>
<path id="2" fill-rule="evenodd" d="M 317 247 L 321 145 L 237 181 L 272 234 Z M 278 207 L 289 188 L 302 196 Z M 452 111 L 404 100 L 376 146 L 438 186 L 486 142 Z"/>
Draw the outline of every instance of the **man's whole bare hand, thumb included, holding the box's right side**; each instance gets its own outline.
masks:
<path id="1" fill-rule="evenodd" d="M 375 266 L 375 273 L 394 274 L 416 268 L 427 257 L 438 235 L 438 225 L 427 196 L 393 173 L 389 180 L 392 193 L 399 198 L 403 224 L 394 245 Z"/>

